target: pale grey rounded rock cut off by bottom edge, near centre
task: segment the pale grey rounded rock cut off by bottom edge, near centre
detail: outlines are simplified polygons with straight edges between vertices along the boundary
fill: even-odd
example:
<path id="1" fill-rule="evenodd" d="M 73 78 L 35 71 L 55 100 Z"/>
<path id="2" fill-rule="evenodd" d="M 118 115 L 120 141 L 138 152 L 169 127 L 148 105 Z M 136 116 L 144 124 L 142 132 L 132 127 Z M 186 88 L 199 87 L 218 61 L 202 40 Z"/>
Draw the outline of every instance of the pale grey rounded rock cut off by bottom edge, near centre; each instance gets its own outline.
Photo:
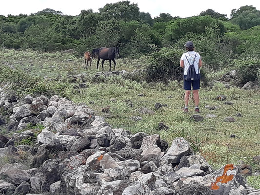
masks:
<path id="1" fill-rule="evenodd" d="M 147 185 L 136 184 L 124 189 L 122 195 L 153 195 Z"/>

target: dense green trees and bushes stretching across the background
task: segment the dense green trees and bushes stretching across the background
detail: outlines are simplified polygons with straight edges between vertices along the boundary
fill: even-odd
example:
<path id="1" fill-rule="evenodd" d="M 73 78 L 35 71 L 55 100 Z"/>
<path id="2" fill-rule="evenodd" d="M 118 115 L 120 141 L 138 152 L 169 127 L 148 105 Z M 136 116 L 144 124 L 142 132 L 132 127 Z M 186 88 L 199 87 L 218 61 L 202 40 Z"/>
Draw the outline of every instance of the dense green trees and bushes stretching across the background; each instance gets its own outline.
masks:
<path id="1" fill-rule="evenodd" d="M 158 66 L 161 60 L 167 64 L 169 56 L 183 52 L 185 42 L 192 40 L 208 68 L 240 70 L 240 84 L 260 75 L 259 35 L 260 10 L 248 5 L 233 9 L 230 19 L 211 9 L 188 18 L 168 13 L 152 18 L 129 1 L 106 4 L 99 12 L 82 10 L 78 16 L 52 9 L 29 16 L 0 15 L 0 47 L 46 52 L 74 49 L 81 57 L 86 50 L 118 45 L 120 58 L 148 54 Z M 244 77 L 248 74 L 255 77 Z"/>

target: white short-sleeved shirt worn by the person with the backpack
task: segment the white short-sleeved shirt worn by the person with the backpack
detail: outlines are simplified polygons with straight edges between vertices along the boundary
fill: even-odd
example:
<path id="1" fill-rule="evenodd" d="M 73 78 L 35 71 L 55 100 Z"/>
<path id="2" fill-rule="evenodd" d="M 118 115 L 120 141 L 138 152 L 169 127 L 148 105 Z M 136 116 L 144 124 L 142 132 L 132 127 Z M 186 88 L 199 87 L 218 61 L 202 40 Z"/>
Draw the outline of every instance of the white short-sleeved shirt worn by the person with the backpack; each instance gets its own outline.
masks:
<path id="1" fill-rule="evenodd" d="M 196 53 L 196 58 L 195 58 L 195 53 Z M 187 56 L 187 58 L 185 57 L 185 55 Z M 200 54 L 198 52 L 195 52 L 195 51 L 186 52 L 186 53 L 182 54 L 180 59 L 184 61 L 184 75 L 187 75 L 190 64 L 194 65 L 196 74 L 200 73 L 200 69 L 199 69 L 200 58 L 201 58 Z M 189 60 L 190 64 L 188 63 L 187 59 Z M 193 61 L 194 61 L 194 63 L 193 63 Z"/>

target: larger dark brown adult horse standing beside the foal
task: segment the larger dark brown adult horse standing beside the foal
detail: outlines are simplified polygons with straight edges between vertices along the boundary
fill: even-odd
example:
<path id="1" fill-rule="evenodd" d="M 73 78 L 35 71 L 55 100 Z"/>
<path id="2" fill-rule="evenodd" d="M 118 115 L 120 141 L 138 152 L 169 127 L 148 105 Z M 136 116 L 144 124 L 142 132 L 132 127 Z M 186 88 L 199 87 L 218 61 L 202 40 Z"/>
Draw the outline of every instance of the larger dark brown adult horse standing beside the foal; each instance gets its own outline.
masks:
<path id="1" fill-rule="evenodd" d="M 105 60 L 109 60 L 109 71 L 111 71 L 111 60 L 114 62 L 114 70 L 116 68 L 115 57 L 119 56 L 119 48 L 118 47 L 101 47 L 92 50 L 92 55 L 98 59 L 97 61 L 97 69 L 99 68 L 100 59 L 102 60 L 102 70 L 104 71 L 104 62 Z"/>

